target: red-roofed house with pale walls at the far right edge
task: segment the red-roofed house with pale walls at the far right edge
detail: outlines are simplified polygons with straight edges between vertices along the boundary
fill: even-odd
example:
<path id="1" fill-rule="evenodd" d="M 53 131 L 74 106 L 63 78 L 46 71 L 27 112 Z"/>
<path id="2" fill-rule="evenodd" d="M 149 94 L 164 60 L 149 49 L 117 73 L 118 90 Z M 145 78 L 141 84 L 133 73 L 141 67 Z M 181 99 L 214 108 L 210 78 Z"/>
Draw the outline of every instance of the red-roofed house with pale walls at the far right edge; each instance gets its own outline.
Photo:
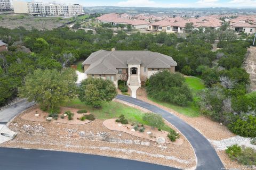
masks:
<path id="1" fill-rule="evenodd" d="M 239 21 L 237 23 L 234 23 L 230 25 L 230 28 L 235 30 L 237 33 L 245 32 L 253 34 L 256 32 L 256 25 L 251 25 L 249 23 L 246 23 L 245 21 Z"/>

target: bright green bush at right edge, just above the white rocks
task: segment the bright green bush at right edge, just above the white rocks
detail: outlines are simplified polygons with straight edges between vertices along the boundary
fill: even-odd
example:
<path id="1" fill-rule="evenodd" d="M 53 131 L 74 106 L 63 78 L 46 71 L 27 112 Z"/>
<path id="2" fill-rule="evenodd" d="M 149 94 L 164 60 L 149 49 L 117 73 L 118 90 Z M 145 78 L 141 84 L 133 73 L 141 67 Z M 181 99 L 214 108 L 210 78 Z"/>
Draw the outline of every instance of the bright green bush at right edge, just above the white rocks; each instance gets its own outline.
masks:
<path id="1" fill-rule="evenodd" d="M 243 120 L 238 118 L 235 122 L 228 125 L 231 132 L 241 135 L 242 137 L 256 137 L 256 117 L 249 115 Z"/>

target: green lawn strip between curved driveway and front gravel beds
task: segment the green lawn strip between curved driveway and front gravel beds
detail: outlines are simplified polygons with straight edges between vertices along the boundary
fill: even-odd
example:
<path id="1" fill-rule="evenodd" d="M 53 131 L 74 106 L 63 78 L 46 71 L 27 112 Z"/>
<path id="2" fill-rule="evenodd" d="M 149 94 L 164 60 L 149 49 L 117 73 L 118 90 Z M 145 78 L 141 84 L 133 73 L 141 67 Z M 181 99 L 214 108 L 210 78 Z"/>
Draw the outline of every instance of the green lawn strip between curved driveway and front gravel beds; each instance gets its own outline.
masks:
<path id="1" fill-rule="evenodd" d="M 139 109 L 126 106 L 115 101 L 111 101 L 109 103 L 104 102 L 102 103 L 102 107 L 99 109 L 87 106 L 83 104 L 79 99 L 71 100 L 68 103 L 63 104 L 63 106 L 78 109 L 86 109 L 87 111 L 90 111 L 90 113 L 93 114 L 96 118 L 102 120 L 106 120 L 109 118 L 117 118 L 121 114 L 123 114 L 129 122 L 141 123 L 146 125 L 148 124 L 147 122 L 142 120 L 143 115 L 146 113 L 143 113 Z M 164 125 L 161 129 L 165 131 L 170 131 L 171 128 L 167 125 Z"/>

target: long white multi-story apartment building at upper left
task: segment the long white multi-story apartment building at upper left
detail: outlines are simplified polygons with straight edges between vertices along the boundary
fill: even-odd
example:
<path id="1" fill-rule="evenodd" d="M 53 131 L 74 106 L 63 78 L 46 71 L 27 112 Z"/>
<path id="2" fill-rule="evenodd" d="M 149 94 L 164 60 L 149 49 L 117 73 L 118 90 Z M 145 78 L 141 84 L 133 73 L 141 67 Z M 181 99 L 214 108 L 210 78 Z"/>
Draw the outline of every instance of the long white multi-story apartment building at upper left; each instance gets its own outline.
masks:
<path id="1" fill-rule="evenodd" d="M 83 7 L 79 4 L 66 5 L 13 1 L 13 8 L 14 13 L 29 13 L 42 16 L 73 16 L 84 13 Z"/>

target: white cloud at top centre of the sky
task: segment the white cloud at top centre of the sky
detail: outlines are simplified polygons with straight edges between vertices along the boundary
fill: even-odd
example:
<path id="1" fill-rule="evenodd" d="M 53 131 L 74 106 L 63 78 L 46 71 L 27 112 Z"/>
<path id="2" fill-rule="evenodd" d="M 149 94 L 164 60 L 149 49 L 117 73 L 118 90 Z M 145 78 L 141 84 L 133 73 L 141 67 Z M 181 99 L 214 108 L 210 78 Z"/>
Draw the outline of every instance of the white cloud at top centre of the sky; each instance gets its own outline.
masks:
<path id="1" fill-rule="evenodd" d="M 150 0 L 127 0 L 127 1 L 121 1 L 116 4 L 117 6 L 150 6 L 154 7 L 156 6 L 156 3 L 154 1 Z"/>

